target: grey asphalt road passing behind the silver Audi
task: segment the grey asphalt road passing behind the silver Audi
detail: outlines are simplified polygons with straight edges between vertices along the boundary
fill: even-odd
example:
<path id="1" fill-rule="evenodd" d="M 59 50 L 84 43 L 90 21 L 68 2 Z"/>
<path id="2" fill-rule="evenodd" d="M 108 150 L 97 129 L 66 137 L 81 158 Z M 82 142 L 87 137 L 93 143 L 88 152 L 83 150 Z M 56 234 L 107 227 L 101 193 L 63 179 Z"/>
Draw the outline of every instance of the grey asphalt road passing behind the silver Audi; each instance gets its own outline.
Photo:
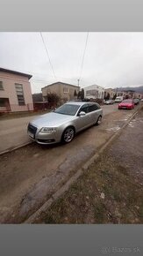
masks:
<path id="1" fill-rule="evenodd" d="M 118 110 L 118 104 L 103 106 L 104 116 Z M 35 116 L 0 120 L 0 153 L 31 141 L 26 133 L 29 121 Z M 38 117 L 38 116 L 37 116 Z"/>

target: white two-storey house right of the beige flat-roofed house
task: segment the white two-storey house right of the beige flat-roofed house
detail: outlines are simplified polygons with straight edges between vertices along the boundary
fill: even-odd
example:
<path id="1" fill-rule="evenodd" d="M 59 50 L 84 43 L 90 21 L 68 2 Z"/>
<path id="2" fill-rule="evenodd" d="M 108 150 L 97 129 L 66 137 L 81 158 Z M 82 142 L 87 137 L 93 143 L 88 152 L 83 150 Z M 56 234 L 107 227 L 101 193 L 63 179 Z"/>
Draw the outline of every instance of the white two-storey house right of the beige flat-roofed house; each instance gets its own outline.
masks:
<path id="1" fill-rule="evenodd" d="M 84 87 L 84 97 L 86 99 L 104 99 L 104 87 L 92 85 Z"/>

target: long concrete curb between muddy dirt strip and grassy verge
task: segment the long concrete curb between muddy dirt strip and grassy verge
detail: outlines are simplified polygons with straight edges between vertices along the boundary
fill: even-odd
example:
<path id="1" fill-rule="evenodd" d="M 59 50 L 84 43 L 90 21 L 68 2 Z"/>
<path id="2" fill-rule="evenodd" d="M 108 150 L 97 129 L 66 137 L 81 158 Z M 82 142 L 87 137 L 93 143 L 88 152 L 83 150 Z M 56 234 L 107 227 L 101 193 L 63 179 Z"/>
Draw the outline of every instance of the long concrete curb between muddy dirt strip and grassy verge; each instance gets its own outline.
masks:
<path id="1" fill-rule="evenodd" d="M 71 184 L 73 184 L 76 179 L 80 176 L 82 176 L 83 174 L 83 171 L 85 169 L 88 169 L 89 166 L 94 163 L 97 158 L 100 156 L 100 154 L 102 154 L 105 150 L 106 147 L 108 147 L 111 142 L 114 140 L 114 139 L 117 139 L 119 134 L 125 129 L 125 127 L 131 122 L 132 118 L 135 117 L 137 115 L 137 113 L 139 112 L 139 110 L 142 108 L 142 105 L 139 106 L 139 109 L 137 109 L 131 117 L 129 117 L 125 124 L 123 124 L 123 126 L 118 130 L 118 132 L 115 132 L 110 139 L 108 139 L 107 142 L 105 142 L 104 146 L 101 147 L 98 151 L 98 153 L 94 154 L 88 162 L 84 163 L 82 165 L 82 168 L 78 169 L 75 173 L 74 176 L 70 177 L 68 182 L 66 184 L 64 184 L 57 192 L 54 192 L 54 195 L 49 199 L 47 200 L 43 205 L 42 207 L 39 207 L 39 209 L 34 213 L 32 214 L 28 219 L 25 220 L 24 223 L 34 223 L 34 222 L 38 222 L 39 221 L 39 218 L 40 216 L 42 215 L 42 213 L 45 213 L 49 207 L 51 207 L 51 205 L 54 203 L 55 200 L 59 199 L 61 197 L 61 195 L 68 191 L 69 187 Z"/>

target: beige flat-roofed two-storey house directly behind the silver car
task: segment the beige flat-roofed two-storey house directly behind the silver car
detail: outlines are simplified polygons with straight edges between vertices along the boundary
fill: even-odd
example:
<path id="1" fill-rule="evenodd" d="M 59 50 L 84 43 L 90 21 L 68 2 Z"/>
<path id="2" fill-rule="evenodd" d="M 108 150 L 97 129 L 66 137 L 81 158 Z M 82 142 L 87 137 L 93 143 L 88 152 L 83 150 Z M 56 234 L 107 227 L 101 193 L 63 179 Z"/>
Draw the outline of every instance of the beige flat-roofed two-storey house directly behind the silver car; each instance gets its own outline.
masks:
<path id="1" fill-rule="evenodd" d="M 56 82 L 41 88 L 43 101 L 47 101 L 47 94 L 57 94 L 61 98 L 61 102 L 72 101 L 75 99 L 75 91 L 78 94 L 80 87 L 76 87 L 70 84 Z"/>

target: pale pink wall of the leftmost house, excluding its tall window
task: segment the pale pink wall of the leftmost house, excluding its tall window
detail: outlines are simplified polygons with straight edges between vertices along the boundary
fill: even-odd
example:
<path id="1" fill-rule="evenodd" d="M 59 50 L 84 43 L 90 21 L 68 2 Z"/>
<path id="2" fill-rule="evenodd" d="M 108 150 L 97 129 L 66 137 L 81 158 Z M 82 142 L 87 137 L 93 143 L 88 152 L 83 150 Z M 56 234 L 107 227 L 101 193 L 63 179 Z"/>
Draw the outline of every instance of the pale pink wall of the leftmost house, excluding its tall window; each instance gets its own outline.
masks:
<path id="1" fill-rule="evenodd" d="M 0 81 L 3 81 L 4 87 L 4 90 L 0 90 L 0 98 L 9 98 L 11 111 L 33 110 L 32 89 L 27 77 L 8 72 L 0 72 Z M 18 97 L 15 88 L 16 83 L 23 85 L 25 97 L 24 106 L 18 105 Z"/>

